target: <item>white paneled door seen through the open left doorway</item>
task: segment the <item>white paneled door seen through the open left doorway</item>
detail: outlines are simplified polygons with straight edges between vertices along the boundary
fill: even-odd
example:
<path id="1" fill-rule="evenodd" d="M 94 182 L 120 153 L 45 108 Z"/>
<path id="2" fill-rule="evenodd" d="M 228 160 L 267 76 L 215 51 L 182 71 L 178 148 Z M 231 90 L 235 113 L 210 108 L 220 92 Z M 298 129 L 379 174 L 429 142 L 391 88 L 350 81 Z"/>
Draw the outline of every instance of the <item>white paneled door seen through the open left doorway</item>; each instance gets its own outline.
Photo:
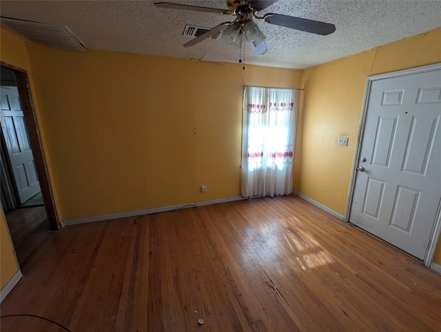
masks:
<path id="1" fill-rule="evenodd" d="M 40 192 L 17 87 L 1 87 L 0 122 L 20 203 Z"/>

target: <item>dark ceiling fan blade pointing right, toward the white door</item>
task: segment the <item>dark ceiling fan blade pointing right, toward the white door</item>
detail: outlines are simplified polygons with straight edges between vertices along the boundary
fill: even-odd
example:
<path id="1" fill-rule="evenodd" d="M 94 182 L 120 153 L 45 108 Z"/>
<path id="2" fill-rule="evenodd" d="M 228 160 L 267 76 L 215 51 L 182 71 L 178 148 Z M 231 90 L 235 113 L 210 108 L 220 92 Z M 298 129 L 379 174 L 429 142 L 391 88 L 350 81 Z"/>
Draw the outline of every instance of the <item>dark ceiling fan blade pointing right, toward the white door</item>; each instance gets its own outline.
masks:
<path id="1" fill-rule="evenodd" d="M 311 32 L 313 34 L 327 35 L 336 31 L 336 25 L 331 23 L 312 21 L 311 19 L 301 19 L 300 17 L 291 17 L 282 14 L 265 14 L 263 19 L 267 23 Z"/>

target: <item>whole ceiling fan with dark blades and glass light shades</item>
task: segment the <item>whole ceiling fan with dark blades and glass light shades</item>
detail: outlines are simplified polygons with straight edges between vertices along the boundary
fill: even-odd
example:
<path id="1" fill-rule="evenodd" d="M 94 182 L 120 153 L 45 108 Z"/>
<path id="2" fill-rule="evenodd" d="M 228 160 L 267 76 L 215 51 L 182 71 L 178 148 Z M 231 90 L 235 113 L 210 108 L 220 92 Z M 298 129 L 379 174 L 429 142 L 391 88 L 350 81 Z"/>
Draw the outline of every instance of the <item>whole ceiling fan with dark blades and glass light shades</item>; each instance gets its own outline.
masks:
<path id="1" fill-rule="evenodd" d="M 179 10 L 194 10 L 197 12 L 214 12 L 225 15 L 236 15 L 236 19 L 234 19 L 234 21 L 220 23 L 216 27 L 212 28 L 212 30 L 209 30 L 204 34 L 201 34 L 201 36 L 192 39 L 192 41 L 185 43 L 183 46 L 186 48 L 196 45 L 197 43 L 200 43 L 204 39 L 207 39 L 218 32 L 222 32 L 223 39 L 225 39 L 225 41 L 231 44 L 234 48 L 240 48 L 245 37 L 245 39 L 249 41 L 249 44 L 251 45 L 255 54 L 265 54 L 265 52 L 267 52 L 267 46 L 265 45 L 266 37 L 263 32 L 260 31 L 256 23 L 253 22 L 253 19 L 263 20 L 269 24 L 311 32 L 313 34 L 327 35 L 336 31 L 336 26 L 331 23 L 302 19 L 300 17 L 291 17 L 283 14 L 267 13 L 263 15 L 263 17 L 258 17 L 256 15 L 256 13 L 260 12 L 260 10 L 264 10 L 276 1 L 277 0 L 227 0 L 227 9 L 189 6 L 170 2 L 155 2 L 154 6 Z"/>

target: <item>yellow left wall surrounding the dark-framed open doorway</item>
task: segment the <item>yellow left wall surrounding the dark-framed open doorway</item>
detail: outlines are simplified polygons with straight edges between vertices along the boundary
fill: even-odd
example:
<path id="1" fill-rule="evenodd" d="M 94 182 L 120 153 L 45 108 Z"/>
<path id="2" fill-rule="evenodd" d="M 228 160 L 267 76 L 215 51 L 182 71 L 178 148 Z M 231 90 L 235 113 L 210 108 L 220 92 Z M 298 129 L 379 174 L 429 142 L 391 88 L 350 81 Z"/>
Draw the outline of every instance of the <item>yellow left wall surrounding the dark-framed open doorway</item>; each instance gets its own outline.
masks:
<path id="1" fill-rule="evenodd" d="M 29 69 L 25 43 L 3 29 L 0 30 L 0 59 L 4 63 L 25 70 Z M 0 241 L 0 287 L 3 289 L 5 284 L 19 270 L 19 264 L 15 258 L 2 207 L 0 207 Z"/>

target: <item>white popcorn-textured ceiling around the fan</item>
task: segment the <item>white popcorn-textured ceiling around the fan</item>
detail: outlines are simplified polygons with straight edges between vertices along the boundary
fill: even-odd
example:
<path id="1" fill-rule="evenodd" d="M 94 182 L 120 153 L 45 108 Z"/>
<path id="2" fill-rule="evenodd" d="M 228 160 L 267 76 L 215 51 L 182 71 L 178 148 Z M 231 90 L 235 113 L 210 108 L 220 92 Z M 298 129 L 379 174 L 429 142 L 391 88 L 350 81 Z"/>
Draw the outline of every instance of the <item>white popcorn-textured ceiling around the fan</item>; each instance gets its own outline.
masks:
<path id="1" fill-rule="evenodd" d="M 1 0 L 0 12 L 67 25 L 89 49 L 229 63 L 243 59 L 239 50 L 222 39 L 207 39 L 192 48 L 182 46 L 193 38 L 183 36 L 185 24 L 213 28 L 234 17 L 156 8 L 153 2 Z M 216 0 L 168 2 L 226 8 L 225 1 Z M 320 36 L 254 20 L 267 36 L 268 52 L 256 56 L 246 45 L 245 63 L 309 68 L 441 26 L 441 1 L 279 0 L 259 14 L 267 12 L 334 23 L 336 32 Z"/>

